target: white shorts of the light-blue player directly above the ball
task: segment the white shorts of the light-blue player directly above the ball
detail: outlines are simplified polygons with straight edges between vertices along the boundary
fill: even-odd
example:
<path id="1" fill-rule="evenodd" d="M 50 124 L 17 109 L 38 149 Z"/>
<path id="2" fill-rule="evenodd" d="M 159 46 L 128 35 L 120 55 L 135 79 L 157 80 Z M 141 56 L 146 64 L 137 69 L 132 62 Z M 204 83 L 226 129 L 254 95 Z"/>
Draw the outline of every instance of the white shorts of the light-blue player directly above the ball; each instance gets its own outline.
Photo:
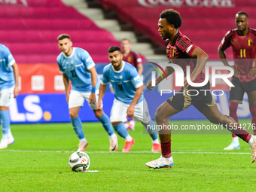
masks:
<path id="1" fill-rule="evenodd" d="M 96 102 L 89 103 L 90 93 L 81 93 L 81 92 L 72 90 L 69 95 L 69 108 L 83 107 L 84 99 L 87 99 L 87 102 L 90 108 L 93 110 L 97 110 L 96 105 L 99 100 L 99 90 L 95 91 L 95 96 L 96 96 Z"/>

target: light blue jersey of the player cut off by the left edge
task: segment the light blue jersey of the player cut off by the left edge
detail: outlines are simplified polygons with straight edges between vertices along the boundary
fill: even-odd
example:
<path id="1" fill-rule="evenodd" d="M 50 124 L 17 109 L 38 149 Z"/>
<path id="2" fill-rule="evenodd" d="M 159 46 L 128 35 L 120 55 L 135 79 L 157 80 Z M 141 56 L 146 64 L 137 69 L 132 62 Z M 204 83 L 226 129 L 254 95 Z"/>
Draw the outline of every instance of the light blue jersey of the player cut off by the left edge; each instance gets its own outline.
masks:
<path id="1" fill-rule="evenodd" d="M 12 56 L 8 47 L 0 44 L 0 90 L 5 90 L 15 85 L 14 56 Z"/>

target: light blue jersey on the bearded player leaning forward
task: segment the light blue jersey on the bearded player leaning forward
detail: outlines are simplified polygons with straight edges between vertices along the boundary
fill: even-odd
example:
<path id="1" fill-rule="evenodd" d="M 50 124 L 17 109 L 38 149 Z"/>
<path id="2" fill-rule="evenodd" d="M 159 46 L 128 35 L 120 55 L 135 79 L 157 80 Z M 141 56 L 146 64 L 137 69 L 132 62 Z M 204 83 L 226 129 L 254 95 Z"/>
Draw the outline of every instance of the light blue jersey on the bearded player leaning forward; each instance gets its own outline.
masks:
<path id="1" fill-rule="evenodd" d="M 130 105 L 133 101 L 136 89 L 143 85 L 142 79 L 134 66 L 128 62 L 123 62 L 122 69 L 115 71 L 112 64 L 108 64 L 103 69 L 101 84 L 108 84 L 110 81 L 114 89 L 114 97 L 125 104 Z M 143 101 L 143 93 L 139 102 Z"/>

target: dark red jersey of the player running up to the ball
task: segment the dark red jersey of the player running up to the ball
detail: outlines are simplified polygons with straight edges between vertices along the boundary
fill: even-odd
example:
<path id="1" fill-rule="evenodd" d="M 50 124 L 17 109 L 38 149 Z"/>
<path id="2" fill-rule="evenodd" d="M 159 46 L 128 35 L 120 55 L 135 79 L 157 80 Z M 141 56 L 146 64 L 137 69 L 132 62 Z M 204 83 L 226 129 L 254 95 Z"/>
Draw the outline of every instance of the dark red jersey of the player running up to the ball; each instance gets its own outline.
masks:
<path id="1" fill-rule="evenodd" d="M 192 59 L 191 56 L 196 47 L 187 36 L 178 31 L 172 44 L 168 39 L 166 40 L 166 55 L 172 63 L 181 66 L 184 74 L 186 74 L 186 66 L 190 66 L 191 75 L 197 64 L 196 59 Z M 203 81 L 205 81 L 205 73 L 201 72 L 193 82 L 202 83 Z"/>

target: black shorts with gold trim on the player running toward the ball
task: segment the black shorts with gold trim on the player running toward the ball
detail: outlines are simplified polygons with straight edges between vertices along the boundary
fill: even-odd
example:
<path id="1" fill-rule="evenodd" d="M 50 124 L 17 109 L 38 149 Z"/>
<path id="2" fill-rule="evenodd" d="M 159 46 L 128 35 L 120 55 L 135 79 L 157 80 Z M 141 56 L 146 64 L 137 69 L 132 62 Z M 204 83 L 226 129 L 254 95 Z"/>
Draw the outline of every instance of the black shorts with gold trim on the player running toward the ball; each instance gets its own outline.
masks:
<path id="1" fill-rule="evenodd" d="M 166 102 L 178 111 L 182 111 L 190 105 L 194 105 L 199 111 L 206 105 L 209 107 L 216 105 L 215 99 L 212 98 L 210 92 L 209 81 L 203 87 L 182 87 L 178 93 L 169 97 Z"/>

